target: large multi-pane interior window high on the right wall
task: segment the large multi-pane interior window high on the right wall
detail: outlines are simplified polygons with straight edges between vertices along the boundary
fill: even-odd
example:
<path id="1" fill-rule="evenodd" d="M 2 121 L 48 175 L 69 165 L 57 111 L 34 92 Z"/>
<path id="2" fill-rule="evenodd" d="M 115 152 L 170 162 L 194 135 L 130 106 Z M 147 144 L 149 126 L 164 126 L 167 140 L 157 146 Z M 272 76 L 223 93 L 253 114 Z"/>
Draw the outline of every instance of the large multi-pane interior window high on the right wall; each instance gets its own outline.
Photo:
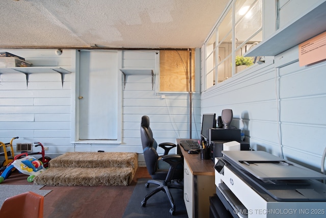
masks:
<path id="1" fill-rule="evenodd" d="M 261 40 L 262 0 L 232 1 L 205 42 L 205 88 L 235 75 L 239 71 L 235 64 L 236 57 L 242 57 Z M 256 63 L 258 59 L 259 57 L 249 58 L 245 67 L 250 62 Z"/>

